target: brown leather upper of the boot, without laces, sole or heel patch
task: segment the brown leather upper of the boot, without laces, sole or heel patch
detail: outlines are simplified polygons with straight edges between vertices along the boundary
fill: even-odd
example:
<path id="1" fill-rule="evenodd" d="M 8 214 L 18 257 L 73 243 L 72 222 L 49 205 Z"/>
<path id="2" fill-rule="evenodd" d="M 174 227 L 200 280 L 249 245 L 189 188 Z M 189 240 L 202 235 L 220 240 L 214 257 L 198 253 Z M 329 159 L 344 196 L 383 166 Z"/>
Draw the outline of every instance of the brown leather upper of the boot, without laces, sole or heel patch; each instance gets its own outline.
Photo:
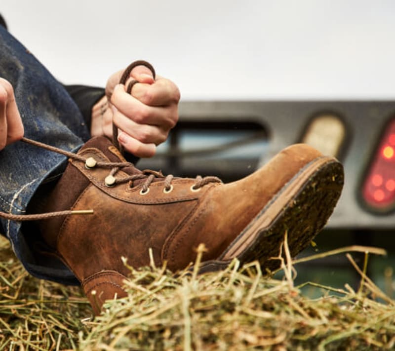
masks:
<path id="1" fill-rule="evenodd" d="M 123 161 L 110 142 L 97 139 L 85 145 L 79 155 L 97 161 Z M 73 159 L 54 192 L 57 207 L 93 209 L 94 214 L 70 215 L 61 223 L 54 219 L 52 225 L 45 225 L 43 236 L 81 281 L 101 270 L 127 275 L 121 256 L 135 268 L 148 265 L 150 247 L 158 266 L 166 261 L 167 267 L 176 271 L 195 260 L 201 242 L 207 248 L 204 260 L 220 256 L 268 201 L 319 156 L 307 145 L 295 145 L 237 182 L 213 182 L 194 191 L 191 187 L 196 179 L 174 178 L 167 194 L 160 173 L 149 191 L 141 194 L 145 179 L 108 187 L 105 178 L 111 168 L 86 168 L 84 162 Z M 130 166 L 118 170 L 115 177 L 141 173 Z M 75 190 L 79 194 L 71 195 Z M 59 201 L 64 192 L 73 203 Z"/>

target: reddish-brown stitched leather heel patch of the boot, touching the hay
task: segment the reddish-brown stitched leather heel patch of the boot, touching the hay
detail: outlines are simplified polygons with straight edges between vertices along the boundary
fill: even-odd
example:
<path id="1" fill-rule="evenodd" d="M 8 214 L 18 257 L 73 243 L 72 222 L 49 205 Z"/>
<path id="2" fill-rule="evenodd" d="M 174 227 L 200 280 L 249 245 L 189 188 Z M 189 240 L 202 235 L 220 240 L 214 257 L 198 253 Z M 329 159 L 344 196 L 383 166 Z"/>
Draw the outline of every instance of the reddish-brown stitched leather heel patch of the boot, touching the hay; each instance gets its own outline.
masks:
<path id="1" fill-rule="evenodd" d="M 127 296 L 123 290 L 124 275 L 116 271 L 101 271 L 89 275 L 82 281 L 82 289 L 92 305 L 95 315 L 100 314 L 106 300 Z"/>

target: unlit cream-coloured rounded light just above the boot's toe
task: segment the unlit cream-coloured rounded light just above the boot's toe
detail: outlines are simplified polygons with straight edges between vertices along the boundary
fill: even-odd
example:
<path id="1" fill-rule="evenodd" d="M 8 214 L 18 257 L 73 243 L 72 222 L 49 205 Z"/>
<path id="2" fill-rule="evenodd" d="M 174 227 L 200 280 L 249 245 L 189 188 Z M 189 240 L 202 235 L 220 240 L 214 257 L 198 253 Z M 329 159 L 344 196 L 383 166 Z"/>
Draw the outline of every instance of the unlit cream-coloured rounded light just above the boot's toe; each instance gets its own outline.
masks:
<path id="1" fill-rule="evenodd" d="M 302 143 L 309 144 L 326 156 L 338 157 L 345 136 L 346 128 L 339 117 L 322 114 L 309 123 Z"/>

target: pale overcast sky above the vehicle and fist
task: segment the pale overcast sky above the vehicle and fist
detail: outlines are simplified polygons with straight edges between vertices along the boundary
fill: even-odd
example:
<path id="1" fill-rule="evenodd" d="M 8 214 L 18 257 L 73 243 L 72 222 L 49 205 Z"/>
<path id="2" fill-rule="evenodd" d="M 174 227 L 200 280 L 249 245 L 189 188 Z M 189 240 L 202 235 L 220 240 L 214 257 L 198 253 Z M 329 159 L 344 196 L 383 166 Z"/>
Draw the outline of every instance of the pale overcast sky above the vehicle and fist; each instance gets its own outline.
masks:
<path id="1" fill-rule="evenodd" d="M 135 59 L 184 100 L 394 99 L 395 1 L 1 0 L 9 30 L 65 83 Z"/>

